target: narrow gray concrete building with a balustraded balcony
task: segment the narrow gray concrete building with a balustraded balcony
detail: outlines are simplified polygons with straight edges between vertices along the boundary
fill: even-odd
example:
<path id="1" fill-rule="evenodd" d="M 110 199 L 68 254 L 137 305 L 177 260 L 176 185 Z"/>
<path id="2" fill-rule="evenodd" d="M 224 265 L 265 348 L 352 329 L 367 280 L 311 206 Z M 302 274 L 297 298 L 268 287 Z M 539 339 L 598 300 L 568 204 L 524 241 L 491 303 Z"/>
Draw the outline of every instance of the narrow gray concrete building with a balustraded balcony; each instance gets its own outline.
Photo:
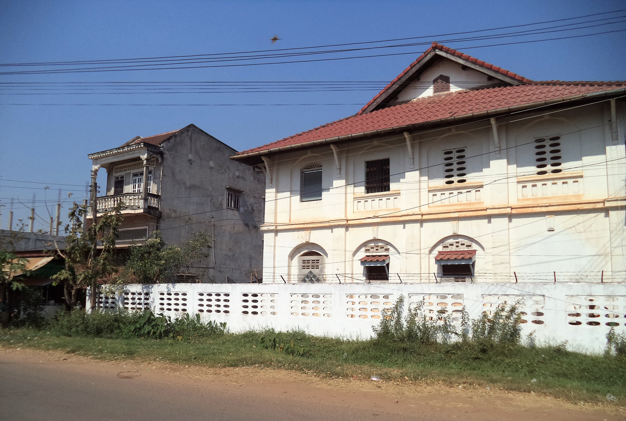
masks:
<path id="1" fill-rule="evenodd" d="M 98 215 L 123 203 L 121 248 L 155 230 L 173 245 L 205 231 L 214 241 L 210 258 L 193 266 L 205 273 L 201 282 L 256 281 L 263 268 L 265 176 L 231 160 L 235 153 L 194 124 L 92 153 L 92 177 L 106 171 Z"/>

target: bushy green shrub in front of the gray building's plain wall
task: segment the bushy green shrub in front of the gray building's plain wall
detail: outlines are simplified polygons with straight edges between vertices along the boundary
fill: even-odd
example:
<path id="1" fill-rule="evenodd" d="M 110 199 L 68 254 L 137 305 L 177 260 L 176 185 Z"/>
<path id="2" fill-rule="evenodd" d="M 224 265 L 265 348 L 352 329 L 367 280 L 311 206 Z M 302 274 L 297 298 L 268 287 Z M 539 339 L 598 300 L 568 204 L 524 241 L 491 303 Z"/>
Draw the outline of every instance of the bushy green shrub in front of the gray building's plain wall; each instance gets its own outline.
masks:
<path id="1" fill-rule="evenodd" d="M 165 245 L 159 231 L 154 231 L 145 244 L 131 245 L 118 283 L 174 282 L 180 273 L 190 273 L 194 261 L 208 257 L 210 246 L 211 238 L 204 231 L 194 233 L 182 247 Z"/>

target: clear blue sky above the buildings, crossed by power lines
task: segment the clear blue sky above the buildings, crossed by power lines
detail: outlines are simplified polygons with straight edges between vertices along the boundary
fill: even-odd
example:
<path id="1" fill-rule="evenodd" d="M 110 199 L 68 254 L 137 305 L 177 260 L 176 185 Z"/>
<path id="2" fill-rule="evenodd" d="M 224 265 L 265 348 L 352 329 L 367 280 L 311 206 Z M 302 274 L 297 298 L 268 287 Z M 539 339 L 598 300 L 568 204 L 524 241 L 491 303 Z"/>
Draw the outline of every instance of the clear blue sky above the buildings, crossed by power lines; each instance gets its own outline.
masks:
<path id="1" fill-rule="evenodd" d="M 429 36 L 562 19 L 623 8 L 620 1 L 4 1 L 0 0 L 0 63 L 177 56 L 295 48 Z M 618 24 L 614 29 L 624 29 Z M 590 31 L 600 29 L 588 29 Z M 581 32 L 582 33 L 582 32 Z M 624 80 L 626 33 L 485 48 L 495 42 L 446 43 L 530 79 Z M 270 44 L 277 35 L 281 39 Z M 548 34 L 552 38 L 553 34 Z M 433 37 L 428 41 L 440 41 Z M 538 37 L 536 37 L 538 38 Z M 59 81 L 389 81 L 415 54 L 239 68 L 110 73 L 3 75 L 6 82 Z M 411 51 L 404 49 L 403 51 Z M 215 94 L 0 94 L 0 211 L 10 198 L 16 218 L 28 216 L 33 193 L 56 202 L 51 183 L 83 185 L 86 155 L 194 123 L 237 150 L 269 143 L 355 113 L 333 106 L 17 106 L 9 103 L 341 103 L 364 104 L 376 91 Z M 44 185 L 7 180 L 38 181 Z M 13 188 L 8 186 L 21 186 Z M 29 187 L 29 188 L 26 188 Z M 66 211 L 63 211 L 65 214 Z M 41 220 L 36 229 L 44 228 Z"/>

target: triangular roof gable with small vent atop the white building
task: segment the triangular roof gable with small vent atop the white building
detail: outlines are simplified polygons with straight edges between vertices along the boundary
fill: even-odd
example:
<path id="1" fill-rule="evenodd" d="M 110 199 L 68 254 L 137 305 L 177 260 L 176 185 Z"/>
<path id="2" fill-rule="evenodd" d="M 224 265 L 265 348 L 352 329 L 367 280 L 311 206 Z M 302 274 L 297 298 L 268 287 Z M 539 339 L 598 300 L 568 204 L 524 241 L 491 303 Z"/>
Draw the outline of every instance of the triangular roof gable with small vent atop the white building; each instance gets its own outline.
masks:
<path id="1" fill-rule="evenodd" d="M 436 73 L 437 67 L 443 67 L 446 69 L 445 71 L 456 76 L 451 81 L 452 91 L 490 85 L 503 86 L 532 82 L 519 74 L 485 63 L 485 61 L 444 45 L 433 43 L 357 114 L 369 113 L 390 104 L 398 104 L 432 94 L 429 83 L 436 75 L 433 76 L 429 73 Z M 423 80 L 420 80 L 421 76 L 423 76 Z"/>

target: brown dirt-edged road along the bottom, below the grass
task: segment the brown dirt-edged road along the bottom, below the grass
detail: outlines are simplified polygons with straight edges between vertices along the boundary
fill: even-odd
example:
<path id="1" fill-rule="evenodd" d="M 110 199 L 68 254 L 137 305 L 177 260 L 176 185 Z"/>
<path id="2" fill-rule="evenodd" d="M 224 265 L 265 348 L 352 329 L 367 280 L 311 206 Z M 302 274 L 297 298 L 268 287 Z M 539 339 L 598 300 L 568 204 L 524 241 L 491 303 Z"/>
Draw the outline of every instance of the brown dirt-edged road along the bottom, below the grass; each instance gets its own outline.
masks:
<path id="1" fill-rule="evenodd" d="M 259 368 L 100 362 L 0 350 L 0 419 L 123 420 L 624 420 L 615 407 L 574 405 L 486 388 L 324 380 Z"/>

